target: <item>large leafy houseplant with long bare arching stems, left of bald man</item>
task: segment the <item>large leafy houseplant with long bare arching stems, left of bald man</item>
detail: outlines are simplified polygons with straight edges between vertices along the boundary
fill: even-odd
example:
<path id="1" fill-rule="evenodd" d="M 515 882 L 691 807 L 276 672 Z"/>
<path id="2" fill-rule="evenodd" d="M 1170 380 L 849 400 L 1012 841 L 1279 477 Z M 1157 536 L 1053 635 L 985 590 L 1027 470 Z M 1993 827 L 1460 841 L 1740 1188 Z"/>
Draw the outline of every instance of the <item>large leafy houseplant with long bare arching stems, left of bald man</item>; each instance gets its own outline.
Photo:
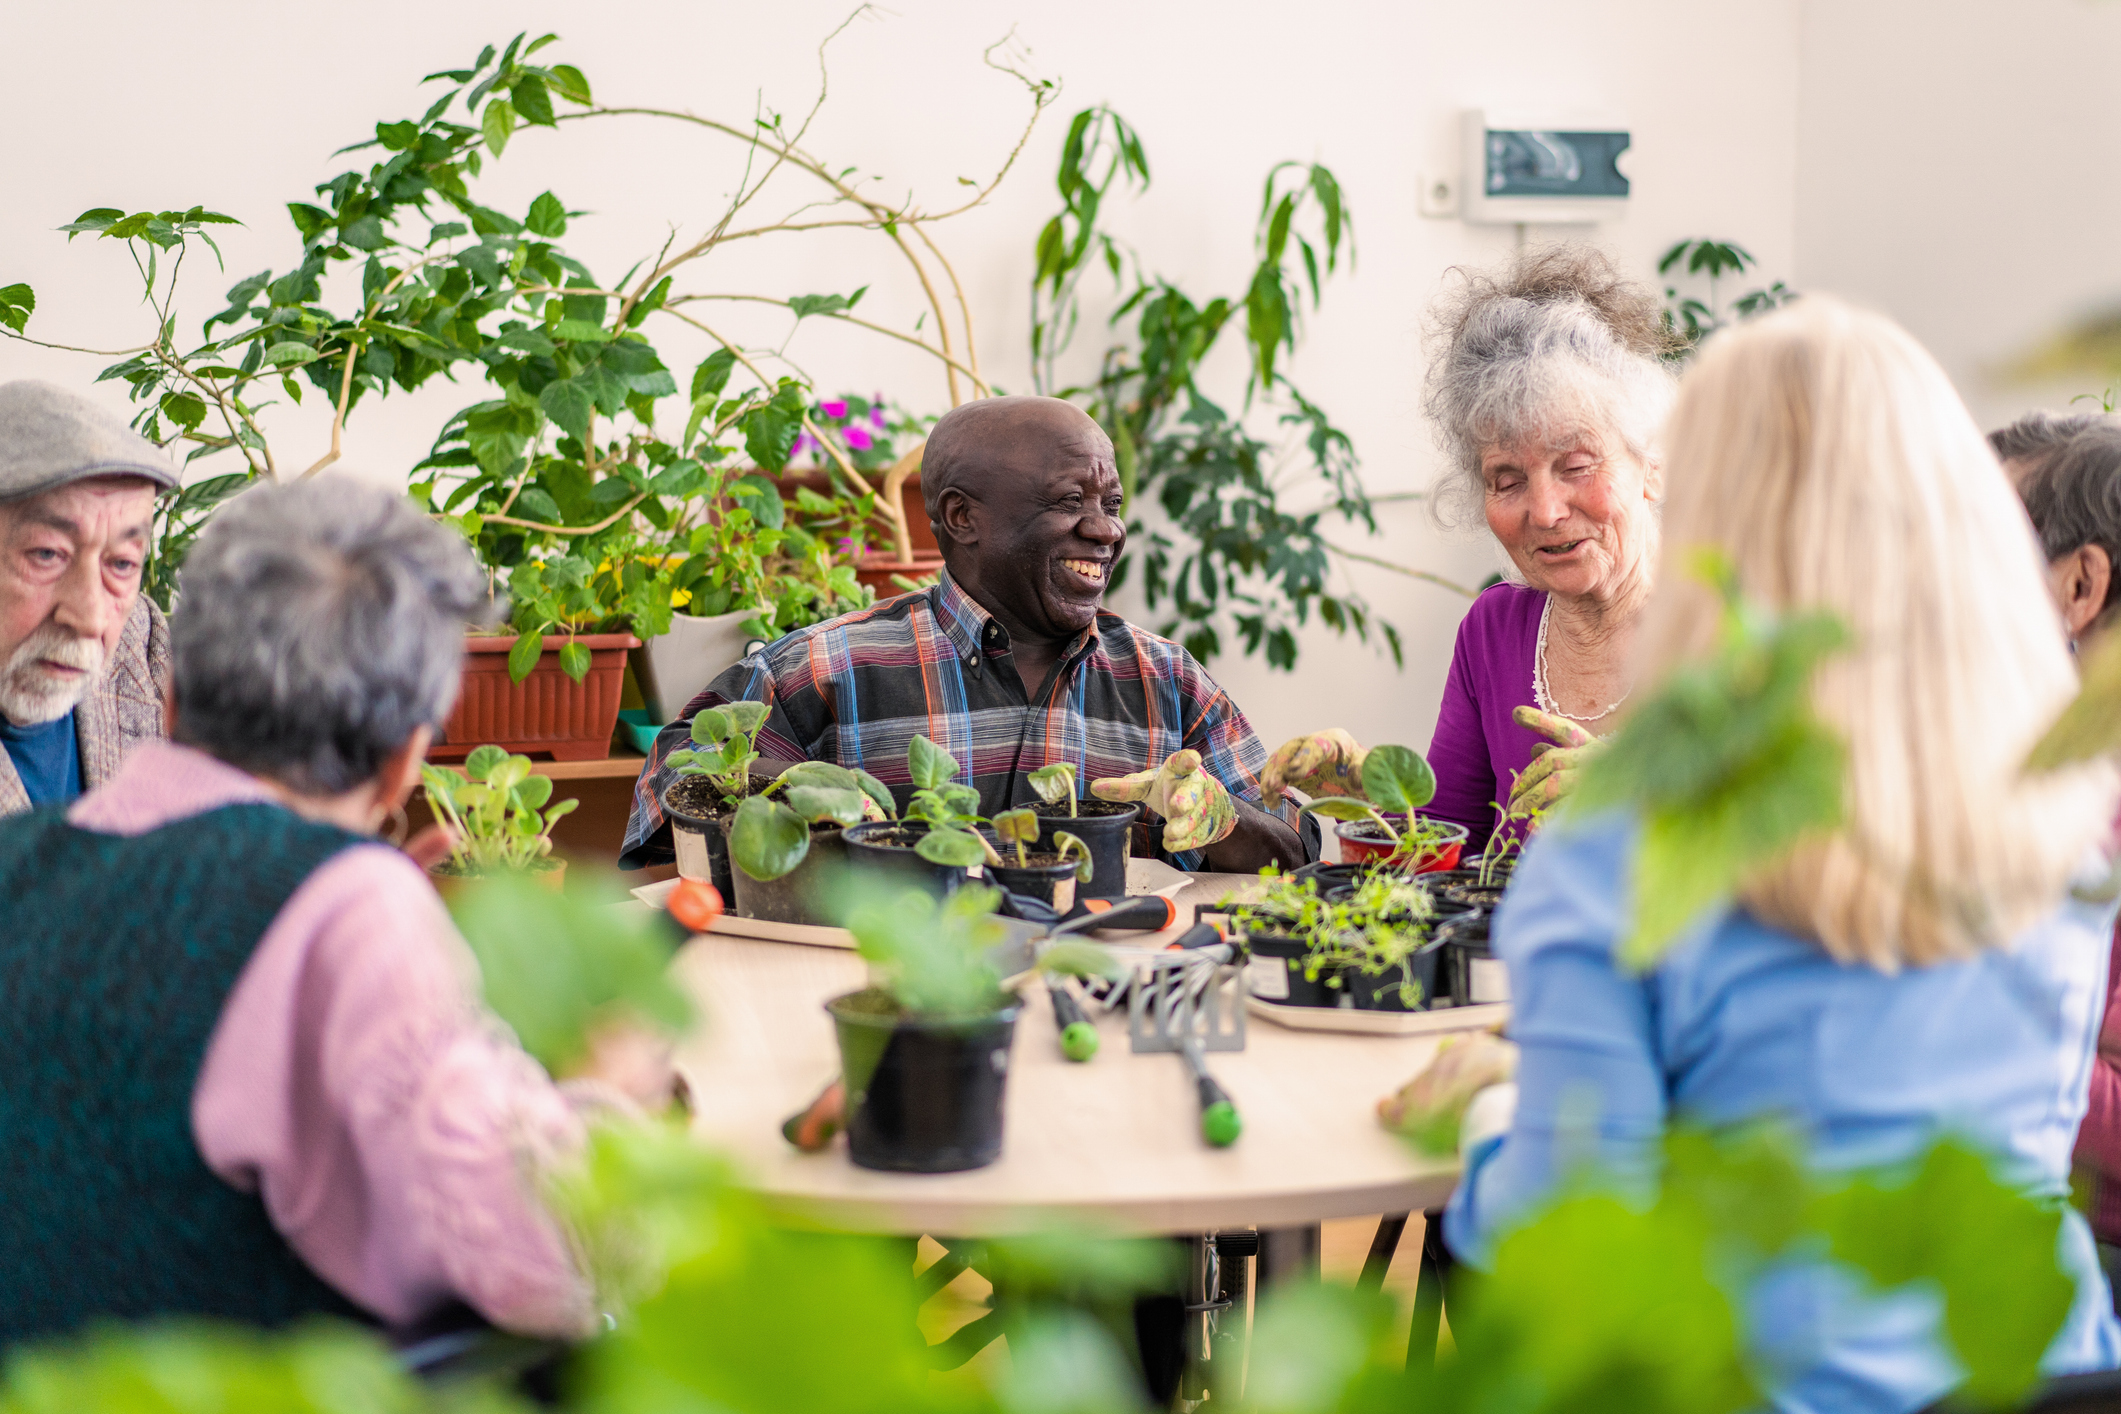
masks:
<path id="1" fill-rule="evenodd" d="M 861 602 L 848 558 L 872 534 L 906 545 L 904 509 L 876 496 L 848 456 L 844 428 L 821 435 L 808 382 L 785 356 L 787 339 L 740 343 L 706 312 L 713 301 L 751 301 L 787 310 L 791 326 L 855 324 L 931 354 L 952 403 L 986 392 L 965 301 L 942 295 L 957 290 L 957 276 L 929 227 L 984 204 L 1022 138 L 991 180 L 931 212 L 910 197 L 865 195 L 853 167 L 804 146 L 823 104 L 823 47 L 819 98 L 800 121 L 772 110 L 721 121 L 600 106 L 588 76 L 549 61 L 543 51 L 551 42 L 549 34 L 520 34 L 467 68 L 428 74 L 443 93 L 420 117 L 378 123 L 373 138 L 346 148 L 378 148 L 378 161 L 288 204 L 301 242 L 291 269 L 240 280 L 197 343 L 178 339 L 178 273 L 195 244 L 218 259 L 208 227 L 229 216 L 100 208 L 70 223 L 70 235 L 125 244 L 144 282 L 155 337 L 132 350 L 83 350 L 119 358 L 104 377 L 132 388 L 136 426 L 157 443 L 187 447 L 187 460 L 242 460 L 242 471 L 195 481 L 165 509 L 148 568 L 148 589 L 163 604 L 214 505 L 257 477 L 312 475 L 335 462 L 363 399 L 462 373 L 484 382 L 488 396 L 450 418 L 420 466 L 428 475 L 411 492 L 477 545 L 496 587 L 507 581 L 524 640 L 511 659 L 518 676 L 534 661 L 528 640 L 543 632 L 630 625 L 653 636 L 674 606 L 751 608 L 768 634 L 838 613 Z M 988 64 L 1016 72 L 993 53 Z M 1022 83 L 1035 123 L 1052 85 Z M 524 210 L 479 199 L 486 165 L 528 129 L 641 117 L 732 140 L 744 165 L 702 231 L 687 242 L 672 233 L 621 280 L 600 282 L 568 254 L 579 212 L 558 193 L 545 191 Z M 817 199 L 791 195 L 787 210 L 757 214 L 787 180 L 810 182 Z M 861 290 L 783 299 L 679 284 L 728 242 L 821 227 L 872 231 L 912 267 L 927 295 L 914 329 L 855 314 Z M 358 299 L 333 303 L 354 288 Z M 4 286 L 0 335 L 42 343 L 28 333 L 34 312 L 34 290 Z M 655 341 L 658 329 L 708 343 L 683 382 Z M 331 403 L 331 445 L 303 471 L 267 437 L 274 392 Z M 829 485 L 785 505 L 776 477 L 804 435 L 823 452 Z M 562 666 L 579 678 L 588 655 L 564 655 Z"/>

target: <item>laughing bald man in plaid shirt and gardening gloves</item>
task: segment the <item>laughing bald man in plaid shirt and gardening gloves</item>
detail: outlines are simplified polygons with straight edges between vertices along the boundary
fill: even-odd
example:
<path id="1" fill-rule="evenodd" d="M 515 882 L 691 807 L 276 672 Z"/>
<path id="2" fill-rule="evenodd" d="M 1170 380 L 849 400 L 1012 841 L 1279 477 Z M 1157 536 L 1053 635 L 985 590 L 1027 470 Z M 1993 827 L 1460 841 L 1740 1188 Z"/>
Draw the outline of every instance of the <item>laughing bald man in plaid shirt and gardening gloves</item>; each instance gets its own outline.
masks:
<path id="1" fill-rule="evenodd" d="M 904 808 L 906 744 L 927 736 L 980 791 L 980 814 L 1033 803 L 1027 776 L 1067 761 L 1107 799 L 1164 816 L 1186 869 L 1302 863 L 1258 808 L 1266 753 L 1186 649 L 1103 608 L 1126 547 L 1111 441 L 1060 399 L 946 413 L 921 464 L 942 581 L 778 638 L 723 672 L 655 742 L 621 865 L 672 856 L 666 753 L 704 706 L 764 702 L 764 761 L 859 765 Z M 1177 789 L 1186 784 L 1186 789 Z M 1205 786 L 1205 789 L 1200 789 Z"/>

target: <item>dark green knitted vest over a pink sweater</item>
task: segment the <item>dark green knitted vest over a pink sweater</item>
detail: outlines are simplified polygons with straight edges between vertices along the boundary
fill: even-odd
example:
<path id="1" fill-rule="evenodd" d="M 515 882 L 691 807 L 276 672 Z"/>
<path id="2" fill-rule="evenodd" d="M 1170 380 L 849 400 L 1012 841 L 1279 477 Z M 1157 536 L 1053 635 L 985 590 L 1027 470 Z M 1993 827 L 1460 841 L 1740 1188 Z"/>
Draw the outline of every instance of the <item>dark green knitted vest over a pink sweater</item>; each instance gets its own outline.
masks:
<path id="1" fill-rule="evenodd" d="M 0 1346 L 98 1316 L 358 1316 L 191 1134 L 235 977 L 358 839 L 278 806 L 136 837 L 0 820 Z"/>

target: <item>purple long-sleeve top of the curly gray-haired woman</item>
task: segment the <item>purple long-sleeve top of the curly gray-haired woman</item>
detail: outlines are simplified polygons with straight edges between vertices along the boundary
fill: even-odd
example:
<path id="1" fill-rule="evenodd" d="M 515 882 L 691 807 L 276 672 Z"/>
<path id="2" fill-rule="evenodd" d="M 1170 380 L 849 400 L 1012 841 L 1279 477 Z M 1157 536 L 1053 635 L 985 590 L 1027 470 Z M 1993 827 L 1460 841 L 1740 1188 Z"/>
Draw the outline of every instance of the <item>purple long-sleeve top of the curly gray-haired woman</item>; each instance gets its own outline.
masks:
<path id="1" fill-rule="evenodd" d="M 1510 780 L 1531 765 L 1531 748 L 1542 740 L 1510 721 L 1512 708 L 1531 704 L 1542 608 L 1542 589 L 1489 585 L 1451 649 L 1451 676 L 1430 738 L 1436 799 L 1423 814 L 1463 825 L 1468 856 L 1487 844 L 1495 801 L 1508 799 Z"/>

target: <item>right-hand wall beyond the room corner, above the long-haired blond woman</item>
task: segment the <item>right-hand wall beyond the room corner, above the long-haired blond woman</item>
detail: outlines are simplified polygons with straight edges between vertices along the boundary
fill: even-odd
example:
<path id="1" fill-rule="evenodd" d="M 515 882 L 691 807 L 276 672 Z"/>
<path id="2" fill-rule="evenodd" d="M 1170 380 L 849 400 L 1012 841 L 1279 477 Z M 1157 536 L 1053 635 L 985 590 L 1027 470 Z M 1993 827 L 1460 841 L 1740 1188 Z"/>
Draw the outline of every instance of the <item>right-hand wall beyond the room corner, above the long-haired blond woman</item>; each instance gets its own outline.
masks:
<path id="1" fill-rule="evenodd" d="M 2117 59 L 2115 4 L 1803 6 L 1801 284 L 1907 324 L 1985 428 L 2104 382 L 2002 373 L 2121 297 Z"/>

